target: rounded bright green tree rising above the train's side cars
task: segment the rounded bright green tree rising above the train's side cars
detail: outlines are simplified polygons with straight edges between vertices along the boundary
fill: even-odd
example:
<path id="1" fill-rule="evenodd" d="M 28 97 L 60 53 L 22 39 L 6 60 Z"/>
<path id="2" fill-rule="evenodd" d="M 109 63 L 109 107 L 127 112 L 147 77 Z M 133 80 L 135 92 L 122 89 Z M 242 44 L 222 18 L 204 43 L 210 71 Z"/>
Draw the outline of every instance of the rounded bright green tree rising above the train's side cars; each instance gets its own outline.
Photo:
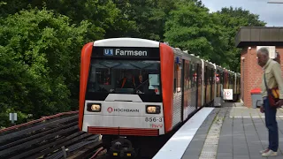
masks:
<path id="1" fill-rule="evenodd" d="M 219 64 L 224 54 L 221 47 L 225 45 L 223 28 L 207 8 L 199 5 L 199 2 L 177 4 L 165 24 L 165 41 Z"/>

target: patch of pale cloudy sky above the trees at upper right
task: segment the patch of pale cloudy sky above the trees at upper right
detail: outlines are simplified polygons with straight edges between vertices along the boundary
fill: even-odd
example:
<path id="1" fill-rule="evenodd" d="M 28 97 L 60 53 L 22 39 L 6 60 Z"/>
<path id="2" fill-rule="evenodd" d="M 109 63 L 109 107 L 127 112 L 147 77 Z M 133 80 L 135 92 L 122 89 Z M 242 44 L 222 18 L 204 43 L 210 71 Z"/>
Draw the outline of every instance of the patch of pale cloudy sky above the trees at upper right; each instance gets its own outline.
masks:
<path id="1" fill-rule="evenodd" d="M 283 4 L 267 4 L 271 0 L 202 0 L 210 11 L 219 11 L 222 7 L 241 7 L 258 14 L 267 27 L 283 27 Z M 283 0 L 272 0 L 283 2 Z"/>

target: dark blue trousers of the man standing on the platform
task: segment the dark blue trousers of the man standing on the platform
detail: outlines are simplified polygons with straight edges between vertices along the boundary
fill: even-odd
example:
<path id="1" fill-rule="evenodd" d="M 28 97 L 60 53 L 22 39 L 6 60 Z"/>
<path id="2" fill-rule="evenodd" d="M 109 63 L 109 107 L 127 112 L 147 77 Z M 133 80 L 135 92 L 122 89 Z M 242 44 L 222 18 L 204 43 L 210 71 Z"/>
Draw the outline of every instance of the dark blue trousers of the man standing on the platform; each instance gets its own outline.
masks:
<path id="1" fill-rule="evenodd" d="M 264 99 L 264 113 L 265 113 L 265 125 L 268 129 L 268 140 L 269 140 L 269 149 L 277 152 L 279 145 L 278 137 L 278 125 L 276 121 L 276 108 L 273 108 L 269 104 L 268 99 Z"/>

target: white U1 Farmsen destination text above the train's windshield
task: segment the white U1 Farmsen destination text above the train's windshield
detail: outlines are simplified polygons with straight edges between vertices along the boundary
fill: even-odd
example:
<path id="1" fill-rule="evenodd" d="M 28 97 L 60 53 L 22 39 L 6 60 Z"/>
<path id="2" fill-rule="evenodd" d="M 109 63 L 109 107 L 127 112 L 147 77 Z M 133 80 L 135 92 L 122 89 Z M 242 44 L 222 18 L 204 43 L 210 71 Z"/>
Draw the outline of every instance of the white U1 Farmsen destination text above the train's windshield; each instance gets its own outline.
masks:
<path id="1" fill-rule="evenodd" d="M 147 57 L 148 51 L 146 50 L 126 50 L 126 49 L 104 49 L 104 56 L 117 56 L 117 57 Z"/>

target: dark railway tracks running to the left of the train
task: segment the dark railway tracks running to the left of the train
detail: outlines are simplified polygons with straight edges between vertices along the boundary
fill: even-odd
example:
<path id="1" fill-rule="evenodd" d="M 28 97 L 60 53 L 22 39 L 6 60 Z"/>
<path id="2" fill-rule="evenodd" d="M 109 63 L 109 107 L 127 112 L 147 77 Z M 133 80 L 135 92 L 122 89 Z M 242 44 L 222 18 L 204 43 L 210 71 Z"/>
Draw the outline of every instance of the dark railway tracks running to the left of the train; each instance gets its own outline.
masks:
<path id="1" fill-rule="evenodd" d="M 78 111 L 0 130 L 0 158 L 88 158 L 98 148 L 99 135 L 80 132 Z"/>

